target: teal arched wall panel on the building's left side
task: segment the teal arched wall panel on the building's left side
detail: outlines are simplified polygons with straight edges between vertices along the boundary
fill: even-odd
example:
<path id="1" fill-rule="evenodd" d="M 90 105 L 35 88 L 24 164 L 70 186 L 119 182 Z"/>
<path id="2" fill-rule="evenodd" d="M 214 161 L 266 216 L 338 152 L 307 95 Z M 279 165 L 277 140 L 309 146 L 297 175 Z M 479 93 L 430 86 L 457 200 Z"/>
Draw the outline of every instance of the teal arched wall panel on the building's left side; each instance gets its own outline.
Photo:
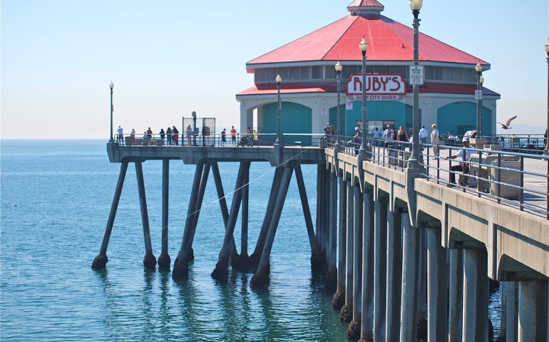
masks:
<path id="1" fill-rule="evenodd" d="M 312 109 L 299 103 L 282 102 L 280 126 L 282 133 L 312 133 Z M 263 106 L 263 133 L 277 133 L 277 103 Z M 289 138 L 284 141 L 300 140 L 310 143 L 310 138 Z"/>

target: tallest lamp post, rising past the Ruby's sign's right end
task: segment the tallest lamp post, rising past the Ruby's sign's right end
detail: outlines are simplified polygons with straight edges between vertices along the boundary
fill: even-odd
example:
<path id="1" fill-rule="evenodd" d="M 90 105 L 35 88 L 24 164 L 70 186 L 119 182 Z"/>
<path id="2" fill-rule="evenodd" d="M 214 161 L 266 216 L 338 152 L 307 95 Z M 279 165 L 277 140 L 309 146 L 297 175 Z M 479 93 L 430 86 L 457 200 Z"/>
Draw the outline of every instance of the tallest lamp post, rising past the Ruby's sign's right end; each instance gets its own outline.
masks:
<path id="1" fill-rule="evenodd" d="M 414 21 L 412 26 L 414 26 L 414 66 L 419 66 L 419 10 L 423 6 L 423 0 L 410 0 L 410 9 L 412 14 L 414 14 Z M 412 137 L 414 141 L 412 143 L 412 154 L 408 160 L 408 167 L 411 170 L 416 170 L 419 172 L 419 85 L 414 84 L 413 86 L 413 97 L 414 97 L 414 118 L 413 118 L 413 130 Z"/>

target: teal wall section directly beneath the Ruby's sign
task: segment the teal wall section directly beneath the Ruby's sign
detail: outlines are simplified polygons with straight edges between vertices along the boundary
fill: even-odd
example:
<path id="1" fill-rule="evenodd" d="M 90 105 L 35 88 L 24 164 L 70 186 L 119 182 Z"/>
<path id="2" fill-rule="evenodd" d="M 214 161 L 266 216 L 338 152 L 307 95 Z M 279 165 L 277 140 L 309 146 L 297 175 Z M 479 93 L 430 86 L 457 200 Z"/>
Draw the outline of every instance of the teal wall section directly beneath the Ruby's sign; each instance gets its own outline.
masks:
<path id="1" fill-rule="evenodd" d="M 354 135 L 354 124 L 356 120 L 362 120 L 362 102 L 354 101 L 352 110 L 345 110 L 342 107 L 342 127 L 344 128 L 344 120 L 347 118 L 347 132 L 342 135 Z M 366 118 L 367 120 L 395 120 L 396 128 L 403 126 L 408 129 L 412 127 L 414 111 L 411 105 L 406 105 L 398 101 L 369 101 L 366 103 Z M 337 118 L 337 106 L 330 108 L 329 120 L 330 123 L 335 123 Z M 421 112 L 420 112 L 421 123 Z"/>

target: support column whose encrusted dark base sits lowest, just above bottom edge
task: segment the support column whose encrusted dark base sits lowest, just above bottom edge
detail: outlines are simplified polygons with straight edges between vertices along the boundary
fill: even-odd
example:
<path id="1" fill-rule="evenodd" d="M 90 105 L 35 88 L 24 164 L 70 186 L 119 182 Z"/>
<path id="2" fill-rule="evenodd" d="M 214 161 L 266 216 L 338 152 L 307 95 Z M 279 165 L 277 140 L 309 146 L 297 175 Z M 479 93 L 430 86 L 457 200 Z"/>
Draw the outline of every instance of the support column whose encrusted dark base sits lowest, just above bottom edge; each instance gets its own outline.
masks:
<path id="1" fill-rule="evenodd" d="M 347 329 L 347 338 L 360 337 L 361 285 L 362 285 L 362 193 L 360 187 L 354 190 L 354 243 L 353 243 L 353 318 Z"/>

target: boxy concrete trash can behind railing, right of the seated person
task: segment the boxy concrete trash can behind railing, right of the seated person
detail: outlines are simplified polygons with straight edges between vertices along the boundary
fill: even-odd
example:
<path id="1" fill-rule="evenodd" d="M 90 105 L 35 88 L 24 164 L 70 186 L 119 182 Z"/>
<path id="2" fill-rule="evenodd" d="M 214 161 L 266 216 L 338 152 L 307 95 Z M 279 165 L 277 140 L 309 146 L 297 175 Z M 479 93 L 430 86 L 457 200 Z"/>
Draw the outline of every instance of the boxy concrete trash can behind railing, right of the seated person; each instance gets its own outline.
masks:
<path id="1" fill-rule="evenodd" d="M 491 162 L 490 168 L 490 180 L 498 181 L 498 161 Z M 520 161 L 519 160 L 501 160 L 500 167 L 506 167 L 514 170 L 500 170 L 500 182 L 515 185 L 516 187 L 510 187 L 508 185 L 500 185 L 500 194 L 502 198 L 517 198 L 520 197 Z M 490 195 L 498 195 L 498 184 L 490 183 Z"/>

